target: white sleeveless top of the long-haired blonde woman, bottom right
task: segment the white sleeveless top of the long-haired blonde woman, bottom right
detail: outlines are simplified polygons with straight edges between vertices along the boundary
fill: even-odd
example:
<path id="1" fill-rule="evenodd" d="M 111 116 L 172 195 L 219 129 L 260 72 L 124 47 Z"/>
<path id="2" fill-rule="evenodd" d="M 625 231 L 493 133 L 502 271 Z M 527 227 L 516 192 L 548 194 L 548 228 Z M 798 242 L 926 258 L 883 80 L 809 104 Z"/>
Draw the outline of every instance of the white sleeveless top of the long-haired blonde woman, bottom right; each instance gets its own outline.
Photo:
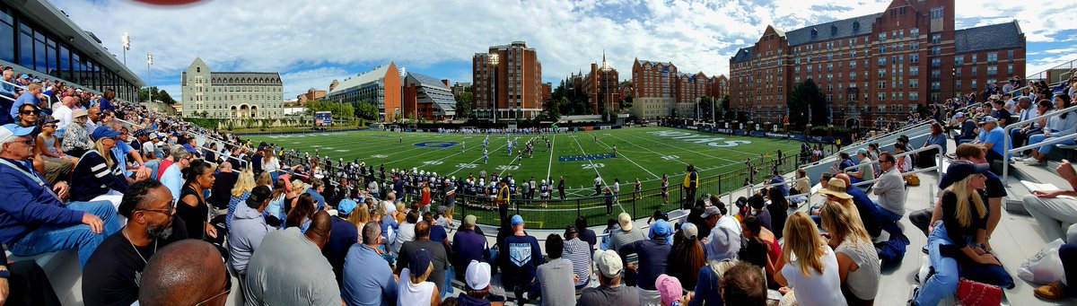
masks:
<path id="1" fill-rule="evenodd" d="M 793 255 L 792 262 L 782 268 L 782 276 L 788 281 L 797 303 L 803 306 L 847 305 L 845 296 L 841 295 L 841 277 L 838 274 L 838 258 L 834 250 L 826 247 L 823 255 L 823 274 L 809 268 L 810 276 L 800 273 L 800 262 Z"/>

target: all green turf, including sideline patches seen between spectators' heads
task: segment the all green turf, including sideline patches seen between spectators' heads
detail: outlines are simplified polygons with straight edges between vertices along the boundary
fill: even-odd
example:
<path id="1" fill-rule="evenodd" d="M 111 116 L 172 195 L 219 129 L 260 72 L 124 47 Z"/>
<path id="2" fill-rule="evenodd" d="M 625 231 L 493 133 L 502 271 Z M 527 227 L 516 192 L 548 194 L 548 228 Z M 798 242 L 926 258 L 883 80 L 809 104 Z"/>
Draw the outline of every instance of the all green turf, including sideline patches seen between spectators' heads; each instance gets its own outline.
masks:
<path id="1" fill-rule="evenodd" d="M 661 136 L 659 134 L 673 134 Z M 699 137 L 684 138 L 686 135 Z M 512 135 L 512 139 L 519 137 L 519 147 L 522 149 L 528 139 L 537 138 L 534 135 Z M 769 154 L 765 157 L 767 163 L 775 158 L 774 151 L 782 150 L 786 156 L 799 152 L 799 143 L 796 141 L 766 139 L 756 137 L 738 137 L 725 135 L 711 135 L 697 133 L 694 130 L 673 129 L 665 127 L 640 127 L 623 128 L 595 131 L 581 131 L 572 134 L 549 135 L 553 141 L 553 152 L 547 151 L 546 143 L 535 141 L 534 155 L 524 156 L 522 161 L 516 158 L 516 149 L 512 156 L 508 156 L 505 147 L 504 135 L 490 136 L 488 147 L 490 161 L 482 164 L 482 139 L 485 135 L 447 135 L 436 133 L 392 133 L 392 131 L 354 131 L 335 134 L 308 134 L 308 135 L 278 135 L 278 136 L 253 136 L 251 139 L 266 141 L 282 145 L 285 149 L 295 149 L 313 153 L 319 149 L 321 155 L 327 155 L 334 161 L 344 158 L 345 161 L 361 159 L 367 165 L 377 167 L 384 164 L 387 169 L 391 168 L 418 168 L 433 171 L 444 177 L 467 177 L 470 173 L 478 176 L 479 170 L 486 169 L 488 173 L 494 171 L 502 177 L 512 175 L 517 183 L 534 177 L 541 181 L 545 177 L 551 177 L 554 184 L 560 176 L 564 176 L 568 185 L 568 197 L 579 198 L 593 195 L 592 182 L 595 176 L 599 175 L 605 185 L 613 186 L 614 180 L 620 180 L 621 195 L 619 205 L 614 207 L 614 214 L 620 211 L 629 211 L 638 214 L 653 211 L 660 208 L 660 197 L 657 187 L 660 185 L 662 175 L 670 177 L 670 203 L 675 203 L 680 197 L 679 184 L 684 179 L 686 165 L 694 165 L 699 171 L 701 179 L 701 193 L 723 192 L 730 190 L 730 186 L 739 186 L 743 183 L 743 173 L 739 176 L 727 176 L 719 182 L 712 177 L 719 173 L 743 172 L 745 169 L 745 158 L 752 158 L 753 164 L 759 164 L 761 154 Z M 598 138 L 598 141 L 595 140 Z M 721 138 L 721 139 L 719 139 Z M 708 141 L 703 141 L 705 139 Z M 726 144 L 726 141 L 742 141 L 736 147 L 713 148 L 708 143 Z M 421 148 L 416 147 L 422 142 L 457 142 L 450 148 Z M 747 142 L 747 143 L 745 143 Z M 612 147 L 617 147 L 617 155 L 614 158 L 561 162 L 561 156 L 606 154 L 612 153 Z M 769 172 L 769 167 L 760 167 L 763 172 Z M 787 169 L 787 168 L 786 168 Z M 766 175 L 757 177 L 764 180 Z M 711 178 L 705 180 L 707 178 Z M 645 191 L 638 201 L 631 200 L 632 182 L 639 179 L 643 182 Z M 711 190 L 708 190 L 711 189 Z M 555 193 L 556 194 L 556 193 Z M 556 196 L 556 195 L 555 195 Z M 589 219 L 592 224 L 605 222 L 605 207 L 600 198 L 579 200 L 578 205 L 584 208 L 579 214 Z M 575 219 L 576 200 L 565 203 L 548 203 L 545 208 L 537 204 L 534 206 L 523 206 L 521 210 L 529 211 L 522 213 L 529 219 L 529 223 L 534 222 L 532 227 L 560 227 L 569 224 Z M 673 209 L 675 205 L 667 206 Z M 460 214 L 460 210 L 457 214 Z M 488 219 L 490 224 L 495 222 L 495 211 L 468 210 L 480 219 Z"/>

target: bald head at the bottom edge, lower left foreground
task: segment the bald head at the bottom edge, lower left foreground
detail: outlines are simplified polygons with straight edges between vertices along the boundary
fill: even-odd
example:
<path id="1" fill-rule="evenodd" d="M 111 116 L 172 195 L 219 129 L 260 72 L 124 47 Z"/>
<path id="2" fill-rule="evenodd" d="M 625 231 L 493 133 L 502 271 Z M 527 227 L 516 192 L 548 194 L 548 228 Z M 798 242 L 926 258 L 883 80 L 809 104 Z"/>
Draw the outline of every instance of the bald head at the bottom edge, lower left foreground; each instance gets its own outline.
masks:
<path id="1" fill-rule="evenodd" d="M 195 239 L 162 248 L 142 274 L 138 292 L 141 305 L 194 305 L 224 292 L 227 287 L 221 253 L 209 242 Z M 214 300 L 223 305 L 227 296 Z"/>

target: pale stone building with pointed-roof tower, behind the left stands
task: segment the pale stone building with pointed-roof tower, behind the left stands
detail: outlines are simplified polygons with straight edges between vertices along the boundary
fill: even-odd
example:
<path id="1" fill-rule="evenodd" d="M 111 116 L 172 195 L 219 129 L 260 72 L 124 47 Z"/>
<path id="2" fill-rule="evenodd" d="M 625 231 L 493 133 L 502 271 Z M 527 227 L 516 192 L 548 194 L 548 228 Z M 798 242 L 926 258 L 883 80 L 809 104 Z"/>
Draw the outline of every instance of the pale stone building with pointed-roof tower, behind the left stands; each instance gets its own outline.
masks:
<path id="1" fill-rule="evenodd" d="M 283 115 L 278 72 L 212 72 L 196 57 L 183 72 L 183 116 L 276 119 Z"/>

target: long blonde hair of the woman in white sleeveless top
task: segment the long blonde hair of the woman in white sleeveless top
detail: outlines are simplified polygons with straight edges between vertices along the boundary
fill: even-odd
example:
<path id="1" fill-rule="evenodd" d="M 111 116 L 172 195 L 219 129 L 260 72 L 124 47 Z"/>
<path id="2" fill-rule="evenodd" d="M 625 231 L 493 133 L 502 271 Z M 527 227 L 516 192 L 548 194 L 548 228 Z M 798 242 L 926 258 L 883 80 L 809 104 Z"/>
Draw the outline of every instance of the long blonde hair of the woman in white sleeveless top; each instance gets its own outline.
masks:
<path id="1" fill-rule="evenodd" d="M 789 215 L 789 220 L 785 222 L 785 245 L 782 248 L 782 259 L 785 262 L 792 263 L 796 255 L 800 262 L 800 274 L 805 277 L 811 276 L 810 269 L 823 274 L 823 254 L 828 248 L 820 239 L 815 222 L 808 214 L 797 212 Z"/>

